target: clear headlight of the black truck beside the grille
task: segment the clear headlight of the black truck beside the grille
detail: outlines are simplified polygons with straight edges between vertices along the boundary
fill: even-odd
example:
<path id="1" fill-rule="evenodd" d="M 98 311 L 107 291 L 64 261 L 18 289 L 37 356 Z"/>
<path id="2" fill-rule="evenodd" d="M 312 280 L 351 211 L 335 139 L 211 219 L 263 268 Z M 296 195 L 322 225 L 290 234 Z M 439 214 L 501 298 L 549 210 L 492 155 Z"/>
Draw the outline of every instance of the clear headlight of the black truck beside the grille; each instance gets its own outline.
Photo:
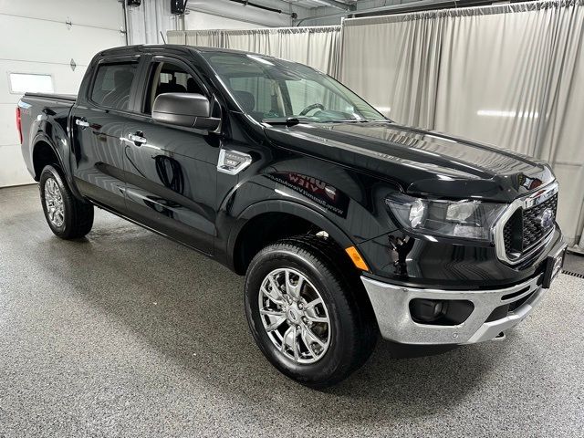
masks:
<path id="1" fill-rule="evenodd" d="M 403 193 L 391 193 L 386 203 L 407 230 L 477 240 L 491 239 L 491 228 L 506 208 L 503 203 L 436 201 Z"/>

